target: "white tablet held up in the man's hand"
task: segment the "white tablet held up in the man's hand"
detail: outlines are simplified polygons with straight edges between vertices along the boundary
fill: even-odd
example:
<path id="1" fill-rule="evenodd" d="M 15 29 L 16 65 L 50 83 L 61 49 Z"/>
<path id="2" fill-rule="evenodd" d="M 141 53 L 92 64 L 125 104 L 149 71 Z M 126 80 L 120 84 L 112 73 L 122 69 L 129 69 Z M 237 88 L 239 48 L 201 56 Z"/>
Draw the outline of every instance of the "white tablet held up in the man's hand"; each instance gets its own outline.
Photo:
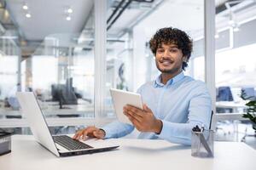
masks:
<path id="1" fill-rule="evenodd" d="M 123 90 L 110 88 L 110 94 L 113 100 L 113 107 L 119 122 L 130 123 L 130 120 L 123 113 L 125 105 L 133 105 L 143 110 L 143 101 L 140 94 L 135 94 Z"/>

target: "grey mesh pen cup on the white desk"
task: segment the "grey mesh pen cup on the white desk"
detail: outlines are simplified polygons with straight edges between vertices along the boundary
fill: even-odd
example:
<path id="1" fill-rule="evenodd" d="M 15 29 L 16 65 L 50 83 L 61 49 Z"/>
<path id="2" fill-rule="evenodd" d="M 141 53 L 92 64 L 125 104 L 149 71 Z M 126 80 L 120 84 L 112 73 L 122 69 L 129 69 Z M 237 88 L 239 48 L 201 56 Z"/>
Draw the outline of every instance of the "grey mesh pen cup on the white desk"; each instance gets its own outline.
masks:
<path id="1" fill-rule="evenodd" d="M 191 156 L 213 157 L 213 130 L 203 132 L 192 131 L 191 135 Z"/>

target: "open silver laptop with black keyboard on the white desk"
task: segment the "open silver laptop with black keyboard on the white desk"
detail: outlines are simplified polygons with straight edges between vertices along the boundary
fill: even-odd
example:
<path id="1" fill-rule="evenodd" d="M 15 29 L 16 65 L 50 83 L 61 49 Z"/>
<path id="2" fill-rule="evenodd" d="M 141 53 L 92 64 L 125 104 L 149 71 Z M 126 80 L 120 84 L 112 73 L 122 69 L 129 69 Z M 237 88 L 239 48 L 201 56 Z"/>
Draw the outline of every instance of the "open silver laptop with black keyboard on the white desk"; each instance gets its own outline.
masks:
<path id="1" fill-rule="evenodd" d="M 102 139 L 79 141 L 67 135 L 52 136 L 35 95 L 32 92 L 18 92 L 17 98 L 35 139 L 56 156 L 76 156 L 119 147 Z"/>

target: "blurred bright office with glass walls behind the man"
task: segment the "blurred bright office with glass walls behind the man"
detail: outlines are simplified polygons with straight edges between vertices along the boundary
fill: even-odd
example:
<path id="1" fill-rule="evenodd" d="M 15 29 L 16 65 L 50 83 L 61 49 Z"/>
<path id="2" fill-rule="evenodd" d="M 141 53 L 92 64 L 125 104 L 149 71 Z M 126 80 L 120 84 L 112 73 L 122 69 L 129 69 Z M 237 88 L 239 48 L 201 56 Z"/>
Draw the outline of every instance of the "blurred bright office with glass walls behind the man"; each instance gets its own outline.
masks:
<path id="1" fill-rule="evenodd" d="M 112 122 L 109 88 L 136 92 L 160 74 L 148 41 L 162 27 L 193 38 L 185 74 L 205 82 L 206 1 L 96 2 L 0 0 L 0 127 L 30 133 L 17 91 L 37 95 L 53 133 Z M 237 141 L 254 133 L 232 114 L 247 109 L 241 90 L 256 95 L 256 1 L 215 0 L 215 10 L 214 105 L 224 114 L 216 129 L 219 140 Z"/>

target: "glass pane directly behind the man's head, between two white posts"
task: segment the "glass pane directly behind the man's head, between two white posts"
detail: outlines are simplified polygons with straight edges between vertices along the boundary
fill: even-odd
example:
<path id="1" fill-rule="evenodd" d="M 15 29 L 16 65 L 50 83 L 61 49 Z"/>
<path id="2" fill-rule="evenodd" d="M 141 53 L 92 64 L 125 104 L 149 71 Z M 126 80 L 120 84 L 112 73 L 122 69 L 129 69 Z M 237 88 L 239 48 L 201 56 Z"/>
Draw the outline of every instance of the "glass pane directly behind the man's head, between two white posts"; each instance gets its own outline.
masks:
<path id="1" fill-rule="evenodd" d="M 148 42 L 163 27 L 177 27 L 194 40 L 195 48 L 185 74 L 204 81 L 204 42 L 197 42 L 204 36 L 203 0 L 133 2 L 112 25 L 113 11 L 118 5 L 108 1 L 106 107 L 113 108 L 109 88 L 137 92 L 143 83 L 160 75 Z"/>

